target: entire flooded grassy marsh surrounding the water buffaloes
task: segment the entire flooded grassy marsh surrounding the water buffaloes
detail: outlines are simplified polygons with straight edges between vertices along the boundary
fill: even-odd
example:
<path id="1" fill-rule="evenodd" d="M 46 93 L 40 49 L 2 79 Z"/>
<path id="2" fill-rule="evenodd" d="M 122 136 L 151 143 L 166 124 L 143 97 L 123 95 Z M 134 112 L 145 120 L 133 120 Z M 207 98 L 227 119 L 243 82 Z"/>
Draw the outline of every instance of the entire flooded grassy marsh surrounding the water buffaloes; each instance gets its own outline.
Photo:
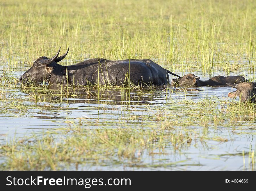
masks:
<path id="1" fill-rule="evenodd" d="M 196 98 L 209 88 L 141 88 L 129 81 L 125 87 L 23 86 L 18 81 L 18 72 L 40 56 L 52 57 L 60 46 L 61 54 L 70 46 L 62 65 L 88 58 L 149 58 L 180 75 L 241 74 L 255 81 L 255 15 L 254 1 L 2 0 L 0 124 L 41 117 L 35 126 L 45 126 L 6 135 L 0 169 L 207 165 L 198 158 L 219 160 L 225 169 L 223 158 L 237 157 L 241 163 L 234 169 L 255 170 L 253 103 L 213 92 Z M 253 141 L 233 148 L 240 138 Z M 211 151 L 216 152 L 205 154 Z"/>

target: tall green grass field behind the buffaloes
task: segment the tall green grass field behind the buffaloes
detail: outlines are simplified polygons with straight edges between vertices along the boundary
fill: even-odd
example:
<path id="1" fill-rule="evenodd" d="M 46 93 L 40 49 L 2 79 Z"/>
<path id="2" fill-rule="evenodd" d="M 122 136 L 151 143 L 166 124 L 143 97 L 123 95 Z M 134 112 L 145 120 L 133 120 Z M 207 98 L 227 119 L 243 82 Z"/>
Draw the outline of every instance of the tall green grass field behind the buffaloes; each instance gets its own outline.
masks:
<path id="1" fill-rule="evenodd" d="M 253 1 L 1 1 L 0 47 L 10 67 L 70 46 L 67 64 L 150 58 L 211 76 L 243 74 L 247 60 L 253 73 L 255 12 Z"/>

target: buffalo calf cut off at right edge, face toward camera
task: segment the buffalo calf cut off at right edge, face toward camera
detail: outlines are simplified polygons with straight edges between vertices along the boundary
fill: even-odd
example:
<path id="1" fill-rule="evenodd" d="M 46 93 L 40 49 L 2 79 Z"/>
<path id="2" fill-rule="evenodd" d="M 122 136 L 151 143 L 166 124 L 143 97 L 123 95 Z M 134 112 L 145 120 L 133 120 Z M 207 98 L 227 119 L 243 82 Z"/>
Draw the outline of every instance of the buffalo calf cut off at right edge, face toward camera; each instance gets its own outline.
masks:
<path id="1" fill-rule="evenodd" d="M 237 89 L 234 92 L 229 92 L 227 95 L 228 97 L 235 99 L 237 96 L 239 96 L 242 102 L 252 101 L 253 103 L 255 103 L 256 83 L 254 82 L 243 82 L 239 84 L 227 83 L 227 85 Z"/>

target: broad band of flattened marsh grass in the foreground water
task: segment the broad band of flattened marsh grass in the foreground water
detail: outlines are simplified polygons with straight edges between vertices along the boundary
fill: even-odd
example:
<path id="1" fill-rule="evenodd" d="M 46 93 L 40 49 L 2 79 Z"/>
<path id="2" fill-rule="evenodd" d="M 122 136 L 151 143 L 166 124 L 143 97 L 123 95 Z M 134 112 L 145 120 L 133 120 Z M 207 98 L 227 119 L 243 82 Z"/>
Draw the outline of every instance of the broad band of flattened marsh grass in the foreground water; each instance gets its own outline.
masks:
<path id="1" fill-rule="evenodd" d="M 56 170 L 121 165 L 129 169 L 133 167 L 182 169 L 187 160 L 173 163 L 166 158 L 166 162 L 163 163 L 158 160 L 148 163 L 143 157 L 144 153 L 154 158 L 155 155 L 165 156 L 172 150 L 184 152 L 191 147 L 207 146 L 209 140 L 219 144 L 231 141 L 232 136 L 222 137 L 210 133 L 211 129 L 220 127 L 228 128 L 230 133 L 237 135 L 255 132 L 255 127 L 248 125 L 255 120 L 255 114 L 243 112 L 241 115 L 241 110 L 238 110 L 237 106 L 228 106 L 235 110 L 227 112 L 230 108 L 227 108 L 225 103 L 209 103 L 209 100 L 187 103 L 182 111 L 175 114 L 167 108 L 165 111 L 163 108 L 161 110 L 148 108 L 146 113 L 149 115 L 136 116 L 131 112 L 130 115 L 120 116 L 122 119 L 119 118 L 114 123 L 96 122 L 98 128 L 90 128 L 95 126 L 95 122 L 90 119 L 77 121 L 66 119 L 67 122 L 69 121 L 69 126 L 39 136 L 31 135 L 26 139 L 14 139 L 2 145 L 1 155 L 5 159 L 2 168 Z M 240 107 L 248 110 L 251 106 L 243 104 Z M 246 168 L 255 169 L 254 150 L 244 155 L 248 158 L 248 162 L 244 162 Z M 200 166 L 196 163 L 189 165 Z"/>

